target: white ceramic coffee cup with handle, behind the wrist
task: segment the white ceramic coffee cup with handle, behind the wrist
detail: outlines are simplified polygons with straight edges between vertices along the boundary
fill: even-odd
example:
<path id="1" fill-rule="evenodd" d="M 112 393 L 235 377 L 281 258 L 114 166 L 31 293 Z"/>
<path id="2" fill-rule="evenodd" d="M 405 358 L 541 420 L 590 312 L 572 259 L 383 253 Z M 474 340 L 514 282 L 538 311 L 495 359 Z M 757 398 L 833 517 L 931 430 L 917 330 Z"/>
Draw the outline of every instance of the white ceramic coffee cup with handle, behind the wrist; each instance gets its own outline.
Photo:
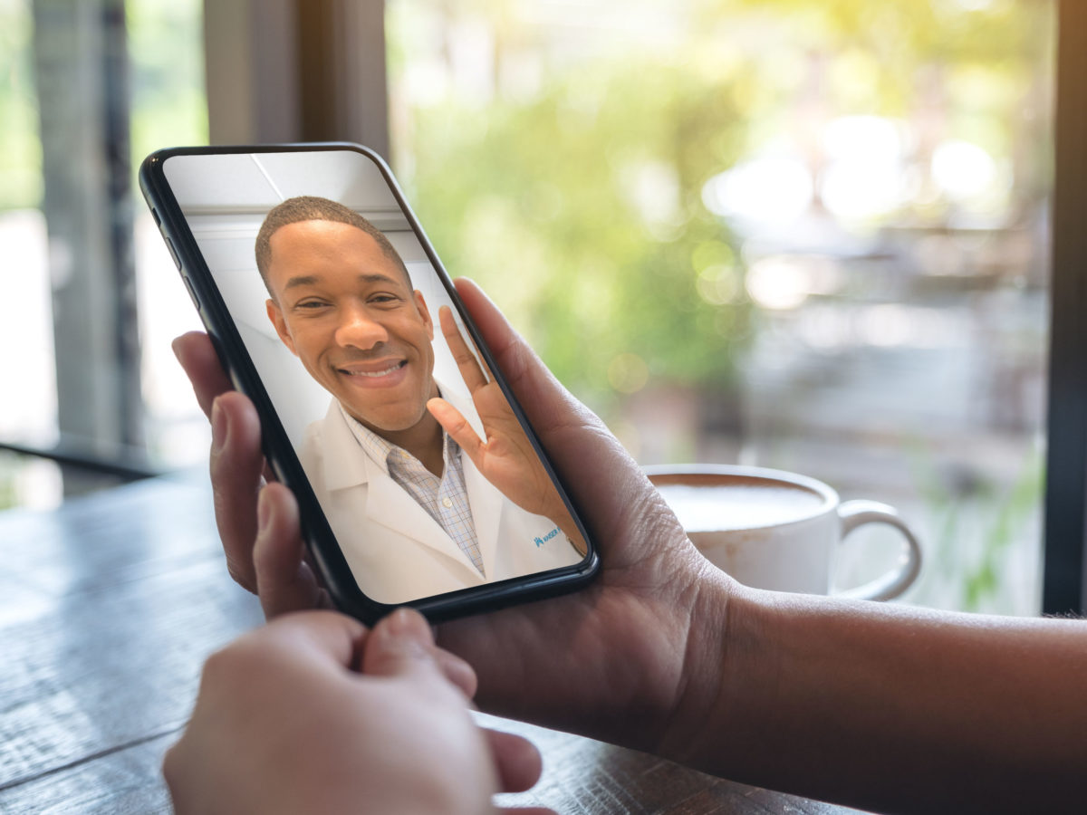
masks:
<path id="1" fill-rule="evenodd" d="M 646 467 L 705 557 L 746 586 L 808 594 L 891 600 L 921 573 L 921 547 L 895 507 L 845 501 L 814 478 L 764 467 Z M 901 532 L 895 568 L 854 589 L 835 587 L 838 550 L 864 524 Z"/>

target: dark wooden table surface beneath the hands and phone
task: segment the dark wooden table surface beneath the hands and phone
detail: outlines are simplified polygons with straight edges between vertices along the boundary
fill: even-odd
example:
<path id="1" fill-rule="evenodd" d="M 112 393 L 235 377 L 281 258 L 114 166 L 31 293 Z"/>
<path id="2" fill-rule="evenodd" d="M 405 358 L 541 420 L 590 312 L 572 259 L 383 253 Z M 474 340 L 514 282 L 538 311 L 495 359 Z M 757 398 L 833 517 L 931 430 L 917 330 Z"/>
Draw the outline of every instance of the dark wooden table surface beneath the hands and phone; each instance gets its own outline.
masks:
<path id="1" fill-rule="evenodd" d="M 202 475 L 0 513 L 0 813 L 168 812 L 162 755 L 204 657 L 262 622 L 226 574 Z M 532 738 L 545 774 L 503 803 L 560 813 L 847 813 L 610 744 Z"/>

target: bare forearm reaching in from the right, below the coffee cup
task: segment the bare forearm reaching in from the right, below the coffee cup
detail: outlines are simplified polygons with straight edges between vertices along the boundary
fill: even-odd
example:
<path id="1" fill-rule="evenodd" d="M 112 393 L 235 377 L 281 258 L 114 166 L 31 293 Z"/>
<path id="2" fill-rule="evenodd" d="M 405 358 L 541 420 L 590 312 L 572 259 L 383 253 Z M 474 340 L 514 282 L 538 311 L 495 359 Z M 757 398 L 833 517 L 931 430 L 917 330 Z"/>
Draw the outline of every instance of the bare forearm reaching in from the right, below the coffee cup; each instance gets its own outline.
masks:
<path id="1" fill-rule="evenodd" d="M 1087 800 L 1087 624 L 746 590 L 728 607 L 677 760 L 880 811 Z"/>

